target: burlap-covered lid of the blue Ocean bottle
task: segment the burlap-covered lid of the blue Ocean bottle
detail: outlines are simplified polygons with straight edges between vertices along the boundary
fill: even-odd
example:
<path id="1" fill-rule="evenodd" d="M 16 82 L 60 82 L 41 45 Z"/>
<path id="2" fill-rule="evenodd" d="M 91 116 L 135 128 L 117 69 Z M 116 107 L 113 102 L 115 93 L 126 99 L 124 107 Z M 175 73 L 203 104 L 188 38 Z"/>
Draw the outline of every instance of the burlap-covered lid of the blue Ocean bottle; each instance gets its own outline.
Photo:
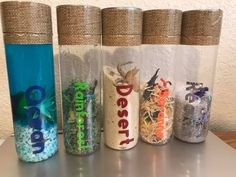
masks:
<path id="1" fill-rule="evenodd" d="M 38 44 L 52 42 L 51 9 L 34 2 L 1 3 L 5 43 Z"/>

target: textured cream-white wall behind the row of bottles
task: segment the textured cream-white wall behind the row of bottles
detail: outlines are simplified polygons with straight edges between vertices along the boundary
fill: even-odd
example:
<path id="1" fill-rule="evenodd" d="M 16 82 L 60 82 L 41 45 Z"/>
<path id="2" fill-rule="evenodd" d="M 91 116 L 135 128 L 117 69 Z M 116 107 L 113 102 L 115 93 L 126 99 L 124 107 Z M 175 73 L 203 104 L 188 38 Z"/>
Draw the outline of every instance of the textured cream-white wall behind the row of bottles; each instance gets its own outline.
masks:
<path id="1" fill-rule="evenodd" d="M 182 10 L 220 8 L 224 11 L 223 27 L 215 77 L 211 129 L 236 130 L 236 1 L 235 0 L 33 0 L 52 7 L 54 44 L 57 44 L 56 9 L 60 4 L 90 4 L 101 8 L 137 6 L 143 10 L 177 8 Z M 2 0 L 0 0 L 2 2 Z M 1 26 L 1 25 L 0 25 Z M 2 31 L 0 27 L 0 31 Z M 54 45 L 55 54 L 58 47 Z M 58 62 L 56 75 L 58 76 Z M 6 63 L 0 33 L 0 138 L 12 132 Z M 57 79 L 58 81 L 58 79 Z M 58 83 L 58 82 L 57 82 Z"/>

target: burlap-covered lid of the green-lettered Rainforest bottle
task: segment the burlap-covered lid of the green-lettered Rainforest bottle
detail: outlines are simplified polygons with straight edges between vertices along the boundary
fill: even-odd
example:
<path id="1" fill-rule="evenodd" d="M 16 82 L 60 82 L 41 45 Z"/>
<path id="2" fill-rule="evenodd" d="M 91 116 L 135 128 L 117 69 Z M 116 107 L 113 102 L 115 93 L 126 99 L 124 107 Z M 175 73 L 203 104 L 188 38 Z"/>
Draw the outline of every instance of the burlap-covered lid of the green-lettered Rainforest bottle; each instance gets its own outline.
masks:
<path id="1" fill-rule="evenodd" d="M 94 6 L 57 7 L 60 45 L 96 45 L 101 43 L 101 10 Z"/>

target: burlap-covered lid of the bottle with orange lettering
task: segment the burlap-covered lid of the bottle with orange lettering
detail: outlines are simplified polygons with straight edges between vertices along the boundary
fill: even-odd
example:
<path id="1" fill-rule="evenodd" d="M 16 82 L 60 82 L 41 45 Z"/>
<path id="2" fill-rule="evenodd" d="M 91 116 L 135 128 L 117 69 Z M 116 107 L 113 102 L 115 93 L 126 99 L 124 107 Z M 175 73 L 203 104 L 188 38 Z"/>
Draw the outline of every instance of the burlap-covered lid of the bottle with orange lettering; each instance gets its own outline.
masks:
<path id="1" fill-rule="evenodd" d="M 155 9 L 143 13 L 143 44 L 179 44 L 182 11 Z"/>

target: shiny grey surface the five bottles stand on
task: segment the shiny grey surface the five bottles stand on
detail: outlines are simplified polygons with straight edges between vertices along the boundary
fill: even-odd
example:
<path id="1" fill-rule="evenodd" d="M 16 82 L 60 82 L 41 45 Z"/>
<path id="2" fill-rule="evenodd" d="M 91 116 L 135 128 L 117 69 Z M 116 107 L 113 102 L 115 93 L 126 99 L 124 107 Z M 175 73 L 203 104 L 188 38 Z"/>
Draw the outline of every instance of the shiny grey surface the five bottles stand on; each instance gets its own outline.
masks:
<path id="1" fill-rule="evenodd" d="M 201 144 L 173 139 L 164 146 L 139 141 L 128 151 L 101 144 L 90 156 L 65 153 L 62 135 L 58 153 L 43 162 L 18 160 L 14 138 L 0 146 L 1 177 L 235 177 L 236 151 L 212 133 Z"/>

